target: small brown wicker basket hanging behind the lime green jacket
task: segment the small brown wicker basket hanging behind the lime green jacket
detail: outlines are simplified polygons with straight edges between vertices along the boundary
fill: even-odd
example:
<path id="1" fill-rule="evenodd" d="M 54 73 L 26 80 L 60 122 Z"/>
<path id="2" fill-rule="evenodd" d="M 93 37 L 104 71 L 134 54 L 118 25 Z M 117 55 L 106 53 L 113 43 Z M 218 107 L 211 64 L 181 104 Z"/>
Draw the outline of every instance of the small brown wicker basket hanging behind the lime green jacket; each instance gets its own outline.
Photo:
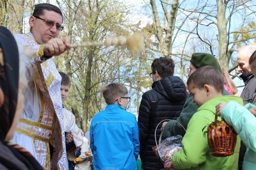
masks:
<path id="1" fill-rule="evenodd" d="M 227 157 L 234 154 L 236 146 L 236 131 L 223 118 L 212 122 L 207 128 L 207 142 L 214 157 Z"/>

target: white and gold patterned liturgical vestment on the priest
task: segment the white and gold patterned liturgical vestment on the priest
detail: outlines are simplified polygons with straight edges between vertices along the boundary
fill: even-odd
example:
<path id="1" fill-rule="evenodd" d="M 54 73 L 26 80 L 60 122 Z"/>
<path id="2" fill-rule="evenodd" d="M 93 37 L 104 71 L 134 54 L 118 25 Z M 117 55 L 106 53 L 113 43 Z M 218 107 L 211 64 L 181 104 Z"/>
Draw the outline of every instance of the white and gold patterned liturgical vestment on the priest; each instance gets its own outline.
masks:
<path id="1" fill-rule="evenodd" d="M 14 36 L 30 58 L 27 66 L 31 79 L 24 89 L 25 107 L 12 142 L 28 149 L 44 169 L 68 169 L 60 73 L 52 58 L 38 61 L 43 45 L 31 33 Z M 54 148 L 52 157 L 49 144 Z"/>

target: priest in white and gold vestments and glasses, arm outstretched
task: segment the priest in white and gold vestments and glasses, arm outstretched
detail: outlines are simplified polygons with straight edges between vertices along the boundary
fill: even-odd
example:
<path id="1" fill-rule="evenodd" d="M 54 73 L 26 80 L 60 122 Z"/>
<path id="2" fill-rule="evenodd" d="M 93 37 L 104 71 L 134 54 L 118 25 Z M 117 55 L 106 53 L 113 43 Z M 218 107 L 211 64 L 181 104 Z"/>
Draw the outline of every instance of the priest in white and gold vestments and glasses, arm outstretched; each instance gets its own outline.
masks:
<path id="1" fill-rule="evenodd" d="M 15 34 L 29 56 L 31 77 L 24 90 L 25 107 L 13 142 L 28 149 L 44 169 L 68 169 L 61 112 L 61 76 L 52 56 L 69 47 L 68 38 L 60 39 L 63 15 L 57 6 L 36 4 L 29 18 L 30 32 Z"/>

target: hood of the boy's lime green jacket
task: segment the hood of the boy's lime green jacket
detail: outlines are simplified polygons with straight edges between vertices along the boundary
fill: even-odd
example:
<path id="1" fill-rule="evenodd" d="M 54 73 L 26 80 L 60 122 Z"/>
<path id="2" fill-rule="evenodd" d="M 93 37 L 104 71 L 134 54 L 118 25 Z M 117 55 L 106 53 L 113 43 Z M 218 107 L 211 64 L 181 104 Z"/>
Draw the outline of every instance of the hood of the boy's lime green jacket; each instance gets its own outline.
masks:
<path id="1" fill-rule="evenodd" d="M 226 95 L 226 96 L 222 96 L 222 97 L 214 97 L 211 100 L 205 102 L 203 105 L 201 105 L 197 111 L 202 111 L 202 110 L 207 110 L 207 111 L 211 111 L 212 113 L 216 113 L 216 108 L 215 105 L 219 104 L 220 102 L 230 102 L 230 101 L 234 101 L 237 102 L 238 104 L 244 105 L 243 104 L 243 99 L 241 97 L 237 97 L 237 96 L 230 96 L 230 95 Z M 214 121 L 214 120 L 212 120 Z"/>

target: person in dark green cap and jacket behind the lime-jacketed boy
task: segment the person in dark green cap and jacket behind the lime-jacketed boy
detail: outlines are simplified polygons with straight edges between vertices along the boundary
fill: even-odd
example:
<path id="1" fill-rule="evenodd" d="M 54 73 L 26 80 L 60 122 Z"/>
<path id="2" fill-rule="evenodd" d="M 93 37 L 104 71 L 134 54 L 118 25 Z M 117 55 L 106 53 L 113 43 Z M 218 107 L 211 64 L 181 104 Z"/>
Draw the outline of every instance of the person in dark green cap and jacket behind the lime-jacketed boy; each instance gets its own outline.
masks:
<path id="1" fill-rule="evenodd" d="M 192 54 L 188 69 L 188 76 L 190 76 L 193 72 L 195 72 L 195 70 L 202 66 L 213 66 L 222 73 L 218 60 L 212 54 L 198 52 Z M 228 92 L 225 89 L 223 91 L 223 95 L 228 95 Z M 179 122 L 186 129 L 188 127 L 189 120 L 192 118 L 193 114 L 196 112 L 197 109 L 198 106 L 194 102 L 192 102 L 192 96 L 189 95 L 186 103 L 184 104 L 182 112 L 180 112 L 180 116 L 179 118 L 177 118 L 176 121 Z M 177 122 L 168 121 L 163 123 L 161 130 L 164 131 L 164 139 L 173 135 L 184 136 L 186 132 L 183 127 Z"/>

